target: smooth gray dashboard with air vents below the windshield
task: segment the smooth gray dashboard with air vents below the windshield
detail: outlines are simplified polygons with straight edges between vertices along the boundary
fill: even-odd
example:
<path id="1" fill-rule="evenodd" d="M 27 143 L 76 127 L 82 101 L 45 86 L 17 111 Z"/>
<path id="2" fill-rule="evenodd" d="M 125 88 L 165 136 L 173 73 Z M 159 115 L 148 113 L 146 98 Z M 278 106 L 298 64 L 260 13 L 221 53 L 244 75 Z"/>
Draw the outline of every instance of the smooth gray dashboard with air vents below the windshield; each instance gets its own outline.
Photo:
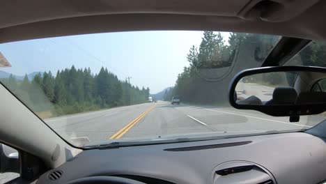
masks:
<path id="1" fill-rule="evenodd" d="M 217 174 L 232 166 L 247 170 Z M 61 176 L 50 180 L 53 171 Z M 151 183 L 145 178 L 157 179 L 147 180 L 152 183 L 321 183 L 326 180 L 326 144 L 323 138 L 293 132 L 93 149 L 43 174 L 38 183 L 90 176 L 134 177 L 144 183 Z"/>

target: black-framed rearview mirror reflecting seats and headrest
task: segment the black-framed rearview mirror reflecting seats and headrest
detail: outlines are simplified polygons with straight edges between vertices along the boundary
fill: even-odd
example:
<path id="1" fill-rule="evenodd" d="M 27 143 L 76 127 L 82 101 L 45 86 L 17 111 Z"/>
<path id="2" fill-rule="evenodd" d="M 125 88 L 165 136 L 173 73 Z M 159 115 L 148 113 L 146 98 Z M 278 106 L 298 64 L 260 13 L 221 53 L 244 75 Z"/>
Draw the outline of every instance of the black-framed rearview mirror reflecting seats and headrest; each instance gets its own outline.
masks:
<path id="1" fill-rule="evenodd" d="M 326 110 L 326 91 L 316 84 L 326 68 L 277 66 L 243 70 L 230 85 L 229 101 L 236 109 L 271 116 L 302 116 Z M 324 86 L 326 90 L 326 84 Z"/>

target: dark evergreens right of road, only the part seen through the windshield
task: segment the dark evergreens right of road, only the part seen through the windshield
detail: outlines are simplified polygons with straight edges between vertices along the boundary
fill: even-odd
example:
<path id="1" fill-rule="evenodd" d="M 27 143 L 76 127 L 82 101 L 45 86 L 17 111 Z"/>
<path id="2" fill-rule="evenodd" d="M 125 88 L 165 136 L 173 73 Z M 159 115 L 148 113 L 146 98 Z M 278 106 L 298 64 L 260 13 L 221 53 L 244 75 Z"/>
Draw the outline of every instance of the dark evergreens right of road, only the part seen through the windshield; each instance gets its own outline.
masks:
<path id="1" fill-rule="evenodd" d="M 189 66 L 184 67 L 183 72 L 178 75 L 173 89 L 164 92 L 164 100 L 171 100 L 173 95 L 178 95 L 183 102 L 203 104 L 215 104 L 223 100 L 226 102 L 227 97 L 221 94 L 221 90 L 227 91 L 231 75 L 228 79 L 217 82 L 208 81 L 205 75 L 212 72 L 210 69 L 231 67 L 240 43 L 259 43 L 264 40 L 263 47 L 257 45 L 253 54 L 255 62 L 262 62 L 267 50 L 270 50 L 278 39 L 275 36 L 230 33 L 228 44 L 226 44 L 221 33 L 204 31 L 199 48 L 192 45 L 189 49 L 189 54 L 187 54 Z"/>

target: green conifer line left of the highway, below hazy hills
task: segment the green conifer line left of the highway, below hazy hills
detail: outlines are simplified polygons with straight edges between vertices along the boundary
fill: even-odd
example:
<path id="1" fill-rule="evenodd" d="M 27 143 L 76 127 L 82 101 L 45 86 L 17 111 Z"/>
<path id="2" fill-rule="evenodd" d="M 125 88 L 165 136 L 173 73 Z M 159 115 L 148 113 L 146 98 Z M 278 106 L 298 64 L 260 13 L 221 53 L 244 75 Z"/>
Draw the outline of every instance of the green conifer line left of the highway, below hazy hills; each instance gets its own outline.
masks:
<path id="1" fill-rule="evenodd" d="M 120 80 L 107 68 L 93 75 L 90 68 L 75 66 L 52 72 L 38 73 L 31 81 L 10 75 L 1 82 L 33 112 L 51 112 L 49 116 L 135 105 L 148 101 L 150 89 L 139 89 L 127 80 Z"/>

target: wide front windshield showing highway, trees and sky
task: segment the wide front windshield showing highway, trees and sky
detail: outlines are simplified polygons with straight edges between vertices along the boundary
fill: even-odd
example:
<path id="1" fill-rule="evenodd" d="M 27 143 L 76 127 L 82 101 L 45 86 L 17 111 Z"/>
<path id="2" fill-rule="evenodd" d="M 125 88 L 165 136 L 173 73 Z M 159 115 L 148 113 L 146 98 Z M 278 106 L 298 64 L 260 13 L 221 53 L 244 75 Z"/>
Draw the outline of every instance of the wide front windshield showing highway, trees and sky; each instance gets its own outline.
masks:
<path id="1" fill-rule="evenodd" d="M 279 39 L 212 31 L 130 31 L 4 43 L 0 81 L 75 146 L 311 128 L 324 116 L 290 123 L 288 117 L 228 104 L 234 75 L 261 66 Z M 262 95 L 269 99 L 272 93 Z"/>

